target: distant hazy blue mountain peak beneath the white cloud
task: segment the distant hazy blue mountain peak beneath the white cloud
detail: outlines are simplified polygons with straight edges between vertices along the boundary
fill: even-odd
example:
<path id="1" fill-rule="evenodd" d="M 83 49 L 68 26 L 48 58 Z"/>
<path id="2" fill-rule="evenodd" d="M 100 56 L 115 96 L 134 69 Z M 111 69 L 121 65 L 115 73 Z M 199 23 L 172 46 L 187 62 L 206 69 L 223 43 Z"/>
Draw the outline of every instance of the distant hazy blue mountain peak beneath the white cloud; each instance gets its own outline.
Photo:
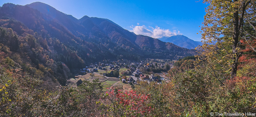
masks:
<path id="1" fill-rule="evenodd" d="M 159 38 L 159 39 L 164 41 L 164 42 L 170 42 L 170 43 L 173 43 L 173 44 L 178 45 L 180 47 L 188 48 L 188 49 L 194 49 L 198 45 L 202 45 L 201 42 L 194 41 L 194 40 L 192 40 L 192 39 L 190 39 L 190 38 L 188 38 L 184 35 L 173 35 L 169 38 L 162 37 L 162 38 Z"/>

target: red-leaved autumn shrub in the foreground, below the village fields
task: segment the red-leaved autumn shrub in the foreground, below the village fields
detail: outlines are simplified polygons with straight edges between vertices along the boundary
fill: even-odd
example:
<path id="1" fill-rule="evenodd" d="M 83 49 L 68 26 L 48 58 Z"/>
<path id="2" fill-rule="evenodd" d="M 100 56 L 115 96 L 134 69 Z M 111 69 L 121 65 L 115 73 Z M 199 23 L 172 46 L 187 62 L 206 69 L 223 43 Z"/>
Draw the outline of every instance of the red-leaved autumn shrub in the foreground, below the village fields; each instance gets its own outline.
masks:
<path id="1" fill-rule="evenodd" d="M 136 91 L 109 89 L 97 102 L 100 105 L 103 116 L 125 117 L 149 116 L 154 110 L 147 103 L 150 95 L 138 94 Z"/>

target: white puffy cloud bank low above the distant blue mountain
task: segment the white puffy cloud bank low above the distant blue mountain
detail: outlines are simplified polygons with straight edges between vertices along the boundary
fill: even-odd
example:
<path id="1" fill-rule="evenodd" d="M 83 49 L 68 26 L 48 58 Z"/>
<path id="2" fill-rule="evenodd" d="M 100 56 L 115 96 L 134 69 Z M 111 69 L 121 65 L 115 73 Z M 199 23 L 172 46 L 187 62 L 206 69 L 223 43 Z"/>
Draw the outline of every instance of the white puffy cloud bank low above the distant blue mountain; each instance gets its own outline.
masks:
<path id="1" fill-rule="evenodd" d="M 170 37 L 172 35 L 181 35 L 180 31 L 173 30 L 172 32 L 169 31 L 169 29 L 161 29 L 160 27 L 156 26 L 155 28 L 148 26 L 149 29 L 145 26 L 138 26 L 139 23 L 137 23 L 137 26 L 130 26 L 130 28 L 133 28 L 130 30 L 131 32 L 134 32 L 137 35 L 146 35 L 153 38 L 162 38 L 162 37 Z"/>

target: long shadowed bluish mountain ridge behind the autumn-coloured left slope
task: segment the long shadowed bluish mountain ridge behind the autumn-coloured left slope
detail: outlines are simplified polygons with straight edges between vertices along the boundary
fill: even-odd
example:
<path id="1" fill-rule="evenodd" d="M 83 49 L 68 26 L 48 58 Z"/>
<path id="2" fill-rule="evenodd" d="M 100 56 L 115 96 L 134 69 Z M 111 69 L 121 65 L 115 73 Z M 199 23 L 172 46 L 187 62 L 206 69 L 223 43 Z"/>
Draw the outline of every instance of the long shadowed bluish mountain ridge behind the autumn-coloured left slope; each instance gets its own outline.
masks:
<path id="1" fill-rule="evenodd" d="M 111 20 L 86 15 L 77 19 L 41 2 L 25 6 L 4 4 L 0 9 L 0 19 L 3 18 L 23 23 L 32 31 L 31 34 L 34 33 L 32 35 L 37 33 L 48 41 L 47 45 L 50 45 L 51 38 L 57 38 L 86 64 L 114 58 L 136 61 L 145 58 L 180 59 L 195 54 L 194 50 L 136 35 Z M 22 32 L 19 35 L 23 35 Z"/>

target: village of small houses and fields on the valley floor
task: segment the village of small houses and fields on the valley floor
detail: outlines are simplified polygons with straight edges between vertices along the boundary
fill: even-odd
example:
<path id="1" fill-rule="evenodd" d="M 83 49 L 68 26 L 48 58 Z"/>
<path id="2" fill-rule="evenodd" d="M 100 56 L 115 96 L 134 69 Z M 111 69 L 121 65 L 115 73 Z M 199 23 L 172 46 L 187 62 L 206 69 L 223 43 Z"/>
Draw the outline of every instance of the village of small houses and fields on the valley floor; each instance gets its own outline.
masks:
<path id="1" fill-rule="evenodd" d="M 165 79 L 163 73 L 172 67 L 173 61 L 161 59 L 147 59 L 141 62 L 98 62 L 80 69 L 75 79 L 69 82 L 75 83 L 77 86 L 82 84 L 84 80 L 92 81 L 99 79 L 103 85 L 103 89 L 114 87 L 123 91 L 131 90 L 138 82 L 157 82 L 161 83 Z M 155 72 L 153 72 L 155 71 Z"/>

